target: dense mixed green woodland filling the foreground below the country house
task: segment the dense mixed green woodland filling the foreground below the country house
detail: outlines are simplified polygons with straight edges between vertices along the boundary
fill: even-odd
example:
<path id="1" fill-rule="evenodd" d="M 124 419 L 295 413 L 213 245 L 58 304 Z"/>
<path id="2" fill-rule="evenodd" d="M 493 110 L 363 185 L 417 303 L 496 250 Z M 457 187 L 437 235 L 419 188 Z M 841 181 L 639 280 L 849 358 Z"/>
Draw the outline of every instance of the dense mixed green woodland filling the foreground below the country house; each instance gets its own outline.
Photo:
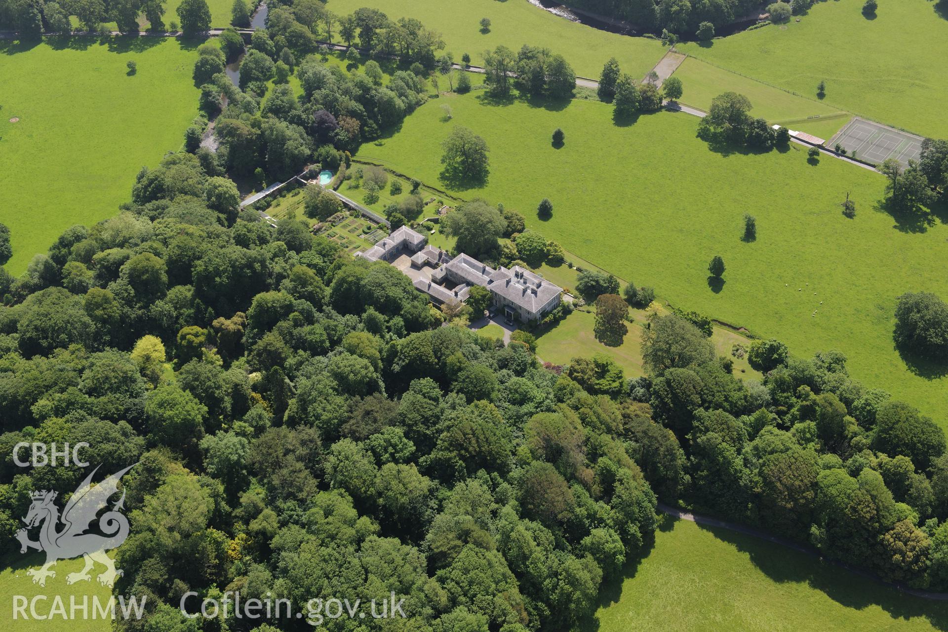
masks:
<path id="1" fill-rule="evenodd" d="M 129 627 L 196 629 L 181 595 L 240 589 L 299 607 L 394 590 L 402 629 L 568 629 L 647 545 L 656 497 L 946 587 L 944 436 L 839 353 L 761 342 L 763 383 L 741 381 L 671 315 L 650 319 L 647 378 L 544 366 L 439 326 L 392 266 L 222 204 L 229 181 L 193 155 L 161 169 L 171 197 L 139 181 L 6 279 L 0 310 L 3 452 L 85 441 L 106 472 L 138 462 L 118 590 L 152 600 Z M 85 474 L 2 468 L 5 543 L 32 490 Z"/>

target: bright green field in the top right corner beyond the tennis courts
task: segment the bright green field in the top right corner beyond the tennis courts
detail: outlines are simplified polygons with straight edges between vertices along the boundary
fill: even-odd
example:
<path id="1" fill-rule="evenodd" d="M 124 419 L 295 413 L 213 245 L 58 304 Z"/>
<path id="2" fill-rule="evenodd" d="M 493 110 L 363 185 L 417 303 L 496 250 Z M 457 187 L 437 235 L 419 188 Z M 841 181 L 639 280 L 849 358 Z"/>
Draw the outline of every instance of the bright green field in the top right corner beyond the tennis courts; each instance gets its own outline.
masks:
<path id="1" fill-rule="evenodd" d="M 863 16 L 863 4 L 817 3 L 800 22 L 747 31 L 711 45 L 678 47 L 808 99 L 816 98 L 817 84 L 826 81 L 824 102 L 834 109 L 921 135 L 948 136 L 945 3 L 880 3 L 873 20 Z"/>

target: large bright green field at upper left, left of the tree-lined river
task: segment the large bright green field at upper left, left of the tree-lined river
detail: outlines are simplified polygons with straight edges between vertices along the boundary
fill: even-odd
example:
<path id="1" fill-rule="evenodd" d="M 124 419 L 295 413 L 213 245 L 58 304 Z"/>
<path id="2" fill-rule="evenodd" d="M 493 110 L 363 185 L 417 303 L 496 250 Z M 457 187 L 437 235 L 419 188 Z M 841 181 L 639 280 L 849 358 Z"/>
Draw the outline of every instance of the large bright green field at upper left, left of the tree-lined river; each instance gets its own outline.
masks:
<path id="1" fill-rule="evenodd" d="M 194 58 L 191 45 L 173 39 L 0 42 L 0 214 L 12 233 L 10 273 L 22 273 L 65 228 L 118 212 L 141 167 L 181 147 L 197 114 Z M 136 75 L 126 74 L 129 60 Z"/>

